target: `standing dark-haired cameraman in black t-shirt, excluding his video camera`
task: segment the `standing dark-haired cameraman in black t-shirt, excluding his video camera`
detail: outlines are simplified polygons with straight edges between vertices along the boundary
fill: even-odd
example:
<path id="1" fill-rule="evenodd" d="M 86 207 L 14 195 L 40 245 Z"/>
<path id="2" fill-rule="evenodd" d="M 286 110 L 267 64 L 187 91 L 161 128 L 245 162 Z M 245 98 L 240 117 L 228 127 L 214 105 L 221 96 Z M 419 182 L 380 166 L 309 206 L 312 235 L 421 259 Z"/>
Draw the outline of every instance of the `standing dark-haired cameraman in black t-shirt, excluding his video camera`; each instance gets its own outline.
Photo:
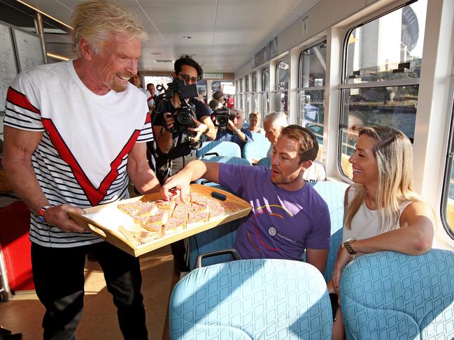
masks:
<path id="1" fill-rule="evenodd" d="M 203 76 L 200 65 L 188 55 L 180 57 L 175 62 L 174 69 L 173 79 L 183 80 L 186 85 L 197 84 L 197 80 L 201 80 Z M 216 136 L 216 129 L 206 105 L 196 98 L 191 98 L 189 103 L 193 105 L 197 117 L 197 119 L 193 119 L 195 127 L 187 128 L 188 131 L 194 133 L 192 136 L 190 133 L 171 133 L 169 131 L 175 123 L 174 113 L 181 104 L 178 93 L 169 98 L 169 101 L 163 101 L 163 107 L 159 108 L 159 112 L 157 112 L 158 108 L 152 112 L 152 119 L 155 119 L 153 133 L 157 145 L 156 175 L 161 183 L 164 183 L 166 177 L 169 177 L 169 169 L 171 169 L 171 174 L 175 175 L 185 164 L 195 158 L 195 150 L 199 147 L 202 134 L 208 140 L 213 140 Z"/>

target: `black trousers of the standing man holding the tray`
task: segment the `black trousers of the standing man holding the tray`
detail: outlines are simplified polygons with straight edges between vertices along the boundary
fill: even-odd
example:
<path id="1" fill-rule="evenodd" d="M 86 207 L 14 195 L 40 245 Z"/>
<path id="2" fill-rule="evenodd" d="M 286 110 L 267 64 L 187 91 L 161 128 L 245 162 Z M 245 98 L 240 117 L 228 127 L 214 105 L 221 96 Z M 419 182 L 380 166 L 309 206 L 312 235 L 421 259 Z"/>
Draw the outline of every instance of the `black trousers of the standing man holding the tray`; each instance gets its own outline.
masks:
<path id="1" fill-rule="evenodd" d="M 107 242 L 73 248 L 48 248 L 32 242 L 36 294 L 45 306 L 44 339 L 76 339 L 83 312 L 85 257 L 89 251 L 103 269 L 125 339 L 148 339 L 138 258 Z"/>

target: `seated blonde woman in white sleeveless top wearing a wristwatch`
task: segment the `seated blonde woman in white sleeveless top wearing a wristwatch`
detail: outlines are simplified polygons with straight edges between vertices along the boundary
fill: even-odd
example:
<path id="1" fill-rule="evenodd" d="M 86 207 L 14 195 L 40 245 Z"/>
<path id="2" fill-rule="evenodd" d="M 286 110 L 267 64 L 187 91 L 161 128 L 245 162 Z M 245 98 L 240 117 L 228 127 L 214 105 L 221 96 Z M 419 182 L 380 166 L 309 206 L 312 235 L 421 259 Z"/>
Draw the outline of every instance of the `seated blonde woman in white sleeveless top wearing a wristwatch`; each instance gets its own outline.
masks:
<path id="1" fill-rule="evenodd" d="M 346 190 L 342 242 L 330 291 L 339 293 L 343 267 L 364 253 L 426 253 L 432 247 L 434 215 L 413 189 L 413 154 L 409 138 L 388 126 L 363 128 L 348 160 L 354 184 Z M 341 310 L 333 339 L 344 339 Z"/>

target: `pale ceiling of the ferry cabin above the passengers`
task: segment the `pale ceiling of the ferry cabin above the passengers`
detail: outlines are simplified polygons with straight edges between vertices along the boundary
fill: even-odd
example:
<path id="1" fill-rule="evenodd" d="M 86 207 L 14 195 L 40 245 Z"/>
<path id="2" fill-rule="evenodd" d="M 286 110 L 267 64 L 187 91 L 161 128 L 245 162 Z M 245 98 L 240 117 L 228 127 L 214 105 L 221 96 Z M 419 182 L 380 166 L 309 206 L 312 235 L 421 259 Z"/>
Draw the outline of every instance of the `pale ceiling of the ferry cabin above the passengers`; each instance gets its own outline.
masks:
<path id="1" fill-rule="evenodd" d="M 82 0 L 25 0 L 70 24 L 73 8 Z M 174 60 L 194 54 L 206 71 L 234 72 L 253 50 L 266 44 L 318 0 L 114 0 L 132 8 L 150 40 L 143 43 L 139 67 L 171 71 Z M 183 36 L 192 36 L 184 39 Z M 48 52 L 72 56 L 64 38 L 50 38 Z M 65 52 L 65 50 L 67 52 Z"/>

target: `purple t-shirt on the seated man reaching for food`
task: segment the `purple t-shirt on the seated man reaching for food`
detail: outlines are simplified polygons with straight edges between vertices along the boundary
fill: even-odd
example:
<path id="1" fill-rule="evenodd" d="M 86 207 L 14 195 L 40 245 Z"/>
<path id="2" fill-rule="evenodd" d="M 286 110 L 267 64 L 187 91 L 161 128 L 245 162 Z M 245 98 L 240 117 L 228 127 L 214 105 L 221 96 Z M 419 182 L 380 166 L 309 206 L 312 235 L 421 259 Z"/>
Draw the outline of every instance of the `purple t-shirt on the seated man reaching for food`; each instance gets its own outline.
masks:
<path id="1" fill-rule="evenodd" d="M 287 191 L 271 182 L 268 168 L 225 163 L 219 182 L 253 206 L 236 232 L 242 258 L 302 260 L 306 248 L 329 249 L 328 206 L 309 184 Z"/>

